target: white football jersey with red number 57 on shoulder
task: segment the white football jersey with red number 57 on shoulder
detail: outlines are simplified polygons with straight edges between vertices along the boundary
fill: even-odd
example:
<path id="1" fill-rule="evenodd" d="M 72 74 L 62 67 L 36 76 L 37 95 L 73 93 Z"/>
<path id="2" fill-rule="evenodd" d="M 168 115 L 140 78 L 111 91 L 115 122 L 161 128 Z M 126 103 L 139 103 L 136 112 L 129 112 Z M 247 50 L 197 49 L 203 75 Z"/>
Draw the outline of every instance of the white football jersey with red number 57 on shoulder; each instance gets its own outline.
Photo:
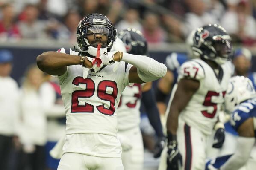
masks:
<path id="1" fill-rule="evenodd" d="M 212 133 L 212 129 L 218 120 L 218 112 L 224 103 L 224 95 L 232 75 L 230 62 L 221 65 L 221 68 L 220 79 L 217 78 L 214 70 L 200 59 L 187 61 L 179 69 L 178 81 L 184 77 L 200 81 L 199 89 L 179 116 L 188 126 L 197 127 L 207 135 Z M 176 89 L 173 90 L 172 96 Z M 171 99 L 168 104 L 168 110 Z"/>

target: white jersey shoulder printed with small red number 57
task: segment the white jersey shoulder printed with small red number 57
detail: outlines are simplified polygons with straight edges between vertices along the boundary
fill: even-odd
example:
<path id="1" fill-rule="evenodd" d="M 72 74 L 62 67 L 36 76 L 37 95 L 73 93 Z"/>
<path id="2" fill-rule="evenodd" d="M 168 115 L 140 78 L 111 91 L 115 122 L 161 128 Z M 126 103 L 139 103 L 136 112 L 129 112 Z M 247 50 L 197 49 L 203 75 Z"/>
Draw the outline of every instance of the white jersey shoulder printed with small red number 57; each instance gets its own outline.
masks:
<path id="1" fill-rule="evenodd" d="M 179 77 L 187 77 L 195 80 L 201 80 L 205 77 L 205 72 L 200 63 L 191 60 L 182 64 L 179 69 Z"/>

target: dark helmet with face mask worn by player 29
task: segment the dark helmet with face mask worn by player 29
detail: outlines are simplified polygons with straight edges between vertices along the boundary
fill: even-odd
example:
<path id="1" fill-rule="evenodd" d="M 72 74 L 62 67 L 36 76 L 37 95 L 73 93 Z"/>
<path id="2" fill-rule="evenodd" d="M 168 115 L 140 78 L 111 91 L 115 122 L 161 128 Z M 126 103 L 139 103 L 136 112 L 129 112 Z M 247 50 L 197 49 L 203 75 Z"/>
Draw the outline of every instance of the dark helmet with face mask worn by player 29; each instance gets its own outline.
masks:
<path id="1" fill-rule="evenodd" d="M 97 54 L 97 45 L 101 45 L 100 53 L 109 52 L 116 39 L 116 29 L 110 20 L 102 14 L 89 14 L 77 26 L 77 43 L 80 52 Z"/>

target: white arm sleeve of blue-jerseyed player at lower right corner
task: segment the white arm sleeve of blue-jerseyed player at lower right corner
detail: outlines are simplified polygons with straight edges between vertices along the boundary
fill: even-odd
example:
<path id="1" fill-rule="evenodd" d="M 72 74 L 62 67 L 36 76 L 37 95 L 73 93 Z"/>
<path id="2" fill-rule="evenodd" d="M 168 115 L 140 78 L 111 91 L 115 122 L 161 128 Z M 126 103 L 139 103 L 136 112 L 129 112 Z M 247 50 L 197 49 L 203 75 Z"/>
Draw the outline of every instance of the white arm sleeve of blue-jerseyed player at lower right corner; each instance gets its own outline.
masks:
<path id="1" fill-rule="evenodd" d="M 246 138 L 239 136 L 237 139 L 237 150 L 220 168 L 220 170 L 238 170 L 248 161 L 251 150 L 255 143 L 255 138 Z"/>

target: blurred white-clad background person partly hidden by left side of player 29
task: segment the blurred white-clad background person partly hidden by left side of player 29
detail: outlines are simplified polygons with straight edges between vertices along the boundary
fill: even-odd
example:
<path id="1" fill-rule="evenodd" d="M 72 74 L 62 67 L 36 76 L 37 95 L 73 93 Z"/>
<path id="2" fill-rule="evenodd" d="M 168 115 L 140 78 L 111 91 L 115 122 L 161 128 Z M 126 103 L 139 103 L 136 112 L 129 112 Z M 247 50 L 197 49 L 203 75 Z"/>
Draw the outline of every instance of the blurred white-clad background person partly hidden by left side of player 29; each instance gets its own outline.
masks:
<path id="1" fill-rule="evenodd" d="M 58 79 L 46 75 L 45 80 L 40 87 L 40 95 L 41 104 L 47 116 L 46 167 L 47 170 L 57 170 L 60 160 L 52 158 L 49 152 L 57 141 L 65 136 L 66 114 Z"/>

